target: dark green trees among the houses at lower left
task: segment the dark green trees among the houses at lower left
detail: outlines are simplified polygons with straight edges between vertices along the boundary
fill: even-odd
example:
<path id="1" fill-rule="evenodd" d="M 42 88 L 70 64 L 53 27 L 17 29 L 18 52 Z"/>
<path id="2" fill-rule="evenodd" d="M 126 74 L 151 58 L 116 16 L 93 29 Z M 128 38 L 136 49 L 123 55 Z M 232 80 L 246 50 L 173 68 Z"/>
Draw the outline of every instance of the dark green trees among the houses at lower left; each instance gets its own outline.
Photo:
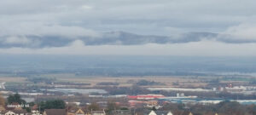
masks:
<path id="1" fill-rule="evenodd" d="M 34 108 L 34 106 L 36 106 L 36 109 L 38 109 L 38 111 L 41 113 L 43 113 L 45 109 L 70 109 L 73 107 L 78 107 L 77 105 L 66 104 L 65 101 L 59 100 L 59 99 L 49 100 L 49 101 L 40 101 L 38 103 L 35 103 L 35 102 L 27 103 L 26 101 L 21 99 L 19 94 L 9 95 L 7 100 L 5 100 L 2 95 L 0 95 L 0 106 L 8 106 L 8 105 L 16 105 L 16 106 L 29 105 L 29 106 L 22 107 L 22 109 L 25 109 L 27 112 L 31 112 L 31 108 Z M 112 112 L 115 109 L 128 110 L 128 108 L 118 106 L 115 101 L 108 101 L 108 104 L 106 107 L 104 107 L 104 109 L 102 108 L 102 106 L 100 106 L 96 102 L 92 102 L 90 105 L 87 105 L 87 106 L 81 106 L 81 108 L 83 108 L 83 110 L 86 110 L 88 112 L 105 110 L 105 112 L 107 112 L 108 114 L 110 114 L 110 112 Z"/>

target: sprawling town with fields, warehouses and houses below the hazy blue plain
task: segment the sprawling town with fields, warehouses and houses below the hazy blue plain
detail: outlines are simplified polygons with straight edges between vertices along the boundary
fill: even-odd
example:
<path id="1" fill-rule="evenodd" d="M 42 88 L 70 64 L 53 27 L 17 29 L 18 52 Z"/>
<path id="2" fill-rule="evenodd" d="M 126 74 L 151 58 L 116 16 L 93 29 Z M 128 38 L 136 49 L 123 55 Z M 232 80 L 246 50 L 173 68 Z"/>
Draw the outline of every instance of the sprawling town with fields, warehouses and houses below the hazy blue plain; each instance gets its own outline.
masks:
<path id="1" fill-rule="evenodd" d="M 58 78 L 58 76 L 61 76 Z M 253 77 L 0 78 L 3 115 L 254 115 Z M 244 80 L 241 81 L 240 79 Z M 58 112 L 58 113 L 57 113 Z"/>

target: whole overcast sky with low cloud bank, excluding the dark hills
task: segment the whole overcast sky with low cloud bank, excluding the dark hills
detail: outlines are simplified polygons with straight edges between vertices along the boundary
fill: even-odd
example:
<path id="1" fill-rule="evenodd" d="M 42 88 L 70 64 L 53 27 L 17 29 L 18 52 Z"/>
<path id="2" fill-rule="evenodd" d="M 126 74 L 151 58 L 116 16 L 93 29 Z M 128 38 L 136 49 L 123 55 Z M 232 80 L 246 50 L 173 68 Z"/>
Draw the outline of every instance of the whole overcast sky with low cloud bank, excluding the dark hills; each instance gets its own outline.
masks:
<path id="1" fill-rule="evenodd" d="M 255 0 L 2 0 L 0 53 L 256 56 L 255 4 Z M 130 45 L 87 45 L 79 39 L 120 31 L 177 39 L 183 33 L 211 32 L 218 37 Z M 34 46 L 40 39 L 29 36 L 64 37 L 70 43 L 38 48 Z M 224 42 L 227 39 L 236 42 Z"/>

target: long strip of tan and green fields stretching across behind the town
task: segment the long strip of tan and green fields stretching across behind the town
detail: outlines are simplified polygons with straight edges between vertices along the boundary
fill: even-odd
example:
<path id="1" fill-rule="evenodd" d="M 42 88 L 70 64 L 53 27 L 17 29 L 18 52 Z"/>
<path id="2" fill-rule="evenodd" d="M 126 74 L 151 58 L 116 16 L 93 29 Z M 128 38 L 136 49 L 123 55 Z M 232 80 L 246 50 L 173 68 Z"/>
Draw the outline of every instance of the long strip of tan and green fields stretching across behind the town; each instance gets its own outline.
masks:
<path id="1" fill-rule="evenodd" d="M 53 83 L 86 83 L 84 87 L 100 86 L 101 83 L 116 83 L 119 87 L 130 87 L 133 84 L 146 80 L 148 85 L 143 87 L 204 87 L 209 81 L 219 78 L 219 83 L 248 83 L 251 78 L 238 77 L 238 78 L 226 78 L 226 77 L 195 77 L 195 76 L 146 76 L 146 77 L 76 77 L 74 74 L 44 74 L 36 78 L 49 78 L 49 82 L 53 80 Z M 21 77 L 0 77 L 0 82 L 6 83 L 34 83 Z M 150 82 L 154 84 L 150 84 Z M 89 85 L 88 85 L 89 84 Z M 49 85 L 44 83 L 36 83 L 36 85 Z M 83 84 L 82 84 L 83 85 Z M 110 84 L 111 85 L 111 84 Z"/>

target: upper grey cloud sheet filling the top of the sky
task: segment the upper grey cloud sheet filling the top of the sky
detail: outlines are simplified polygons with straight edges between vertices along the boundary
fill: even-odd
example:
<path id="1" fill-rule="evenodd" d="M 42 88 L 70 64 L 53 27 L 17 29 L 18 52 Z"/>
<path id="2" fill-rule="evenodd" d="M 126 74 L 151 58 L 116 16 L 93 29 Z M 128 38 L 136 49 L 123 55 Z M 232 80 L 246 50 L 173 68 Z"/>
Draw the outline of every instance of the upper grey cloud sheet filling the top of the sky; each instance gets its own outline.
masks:
<path id="1" fill-rule="evenodd" d="M 254 4 L 253 0 L 8 0 L 0 2 L 0 26 L 9 20 L 8 24 L 14 25 L 42 22 L 154 35 L 168 35 L 166 27 L 179 27 L 186 32 L 204 32 L 206 28 L 207 32 L 220 32 L 255 20 Z"/>

